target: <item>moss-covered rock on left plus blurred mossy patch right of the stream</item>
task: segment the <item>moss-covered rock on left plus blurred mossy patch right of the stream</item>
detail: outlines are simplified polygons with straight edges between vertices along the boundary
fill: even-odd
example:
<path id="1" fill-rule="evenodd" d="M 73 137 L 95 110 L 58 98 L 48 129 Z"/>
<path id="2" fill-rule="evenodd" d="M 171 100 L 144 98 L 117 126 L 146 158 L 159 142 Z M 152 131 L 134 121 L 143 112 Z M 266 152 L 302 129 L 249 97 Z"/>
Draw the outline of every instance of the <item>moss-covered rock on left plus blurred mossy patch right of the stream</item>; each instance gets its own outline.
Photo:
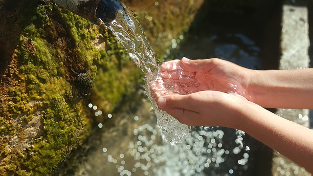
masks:
<path id="1" fill-rule="evenodd" d="M 189 15 L 196 1 L 182 3 L 191 5 Z M 132 9 L 159 58 L 192 21 L 172 13 L 185 6 L 167 5 L 151 11 L 154 21 L 145 20 L 151 4 Z M 98 119 L 89 103 L 112 112 L 140 88 L 143 74 L 106 28 L 49 0 L 0 0 L 0 17 L 0 176 L 50 175 L 92 132 Z"/>

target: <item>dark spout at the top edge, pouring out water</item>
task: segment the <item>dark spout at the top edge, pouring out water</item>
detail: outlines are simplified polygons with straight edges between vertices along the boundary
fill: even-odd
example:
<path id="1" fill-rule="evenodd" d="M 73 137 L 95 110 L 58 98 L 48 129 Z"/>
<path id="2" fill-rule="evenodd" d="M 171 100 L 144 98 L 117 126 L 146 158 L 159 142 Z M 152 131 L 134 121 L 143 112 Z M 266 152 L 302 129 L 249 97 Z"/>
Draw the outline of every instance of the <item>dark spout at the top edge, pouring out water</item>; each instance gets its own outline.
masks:
<path id="1" fill-rule="evenodd" d="M 56 4 L 67 8 L 71 12 L 98 24 L 98 18 L 103 22 L 115 19 L 119 9 L 123 9 L 117 0 L 51 0 Z"/>

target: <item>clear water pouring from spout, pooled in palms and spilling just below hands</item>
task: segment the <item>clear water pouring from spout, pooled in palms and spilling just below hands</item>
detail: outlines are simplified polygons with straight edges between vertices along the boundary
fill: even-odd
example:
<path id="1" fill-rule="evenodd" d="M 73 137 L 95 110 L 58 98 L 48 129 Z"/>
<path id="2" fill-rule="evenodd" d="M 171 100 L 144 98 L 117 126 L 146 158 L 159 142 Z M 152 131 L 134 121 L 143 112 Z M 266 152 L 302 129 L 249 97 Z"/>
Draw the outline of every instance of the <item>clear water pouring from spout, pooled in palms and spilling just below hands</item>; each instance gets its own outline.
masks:
<path id="1" fill-rule="evenodd" d="M 157 124 L 162 131 L 162 136 L 166 141 L 172 144 L 180 143 L 183 136 L 188 134 L 189 127 L 179 123 L 174 117 L 163 110 L 159 110 L 156 101 L 153 98 L 150 88 L 158 87 L 157 96 L 168 94 L 190 94 L 197 92 L 200 88 L 200 83 L 195 78 L 196 72 L 191 73 L 184 71 L 178 67 L 179 77 L 165 79 L 160 77 L 160 66 L 157 64 L 156 56 L 153 52 L 152 46 L 148 43 L 144 32 L 134 18 L 132 12 L 127 7 L 121 5 L 121 9 L 115 14 L 115 19 L 106 22 L 99 18 L 99 23 L 107 26 L 114 36 L 123 44 L 128 51 L 130 57 L 135 64 L 145 74 L 145 90 L 146 95 L 152 102 L 152 107 L 157 117 Z M 150 85 L 150 83 L 152 83 Z M 231 85 L 234 93 L 241 93 L 236 85 Z M 239 131 L 239 137 L 244 135 L 244 132 Z"/>

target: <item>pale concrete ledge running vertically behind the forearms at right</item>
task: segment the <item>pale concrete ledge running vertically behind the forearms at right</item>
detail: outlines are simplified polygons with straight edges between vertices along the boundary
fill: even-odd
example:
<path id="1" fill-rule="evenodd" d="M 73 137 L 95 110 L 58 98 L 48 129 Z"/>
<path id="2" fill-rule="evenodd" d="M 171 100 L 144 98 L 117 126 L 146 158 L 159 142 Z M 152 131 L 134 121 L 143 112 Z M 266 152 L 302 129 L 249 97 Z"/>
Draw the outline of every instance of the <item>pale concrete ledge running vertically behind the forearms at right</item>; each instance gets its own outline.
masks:
<path id="1" fill-rule="evenodd" d="M 307 6 L 282 6 L 281 58 L 279 69 L 305 68 L 309 58 L 309 19 Z M 279 109 L 277 115 L 309 127 L 309 110 Z M 293 129 L 291 129 L 293 130 Z M 296 137 L 296 136 L 295 136 Z M 311 176 L 304 168 L 275 152 L 272 176 Z"/>

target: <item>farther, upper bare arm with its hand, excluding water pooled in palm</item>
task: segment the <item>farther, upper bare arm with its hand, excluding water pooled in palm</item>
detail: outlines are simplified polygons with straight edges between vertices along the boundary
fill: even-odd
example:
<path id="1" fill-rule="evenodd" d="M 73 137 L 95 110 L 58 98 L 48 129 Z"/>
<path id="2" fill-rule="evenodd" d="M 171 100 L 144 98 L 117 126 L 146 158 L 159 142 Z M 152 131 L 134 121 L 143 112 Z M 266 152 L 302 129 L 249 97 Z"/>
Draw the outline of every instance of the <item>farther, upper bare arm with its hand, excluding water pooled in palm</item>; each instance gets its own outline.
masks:
<path id="1" fill-rule="evenodd" d="M 169 63 L 175 62 L 179 63 Z M 313 109 L 313 68 L 251 70 L 217 58 L 180 62 L 197 71 L 197 79 L 205 85 L 201 90 L 229 92 L 233 84 L 241 90 L 237 93 L 262 107 Z M 170 64 L 164 66 L 171 69 Z"/>

